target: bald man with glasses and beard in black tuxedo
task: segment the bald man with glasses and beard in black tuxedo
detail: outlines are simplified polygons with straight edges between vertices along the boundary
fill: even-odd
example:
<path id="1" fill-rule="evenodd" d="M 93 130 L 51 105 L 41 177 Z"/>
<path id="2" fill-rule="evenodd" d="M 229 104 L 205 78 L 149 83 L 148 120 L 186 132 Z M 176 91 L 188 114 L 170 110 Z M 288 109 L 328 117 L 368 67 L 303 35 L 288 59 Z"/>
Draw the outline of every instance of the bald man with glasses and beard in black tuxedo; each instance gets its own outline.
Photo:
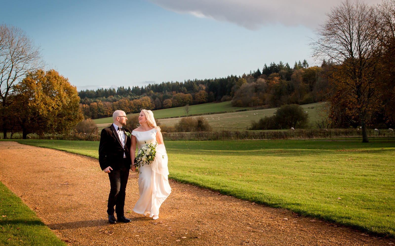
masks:
<path id="1" fill-rule="evenodd" d="M 126 125 L 126 113 L 116 110 L 113 113 L 114 124 L 104 128 L 100 135 L 99 163 L 110 179 L 110 194 L 108 196 L 107 214 L 108 222 L 115 221 L 114 211 L 119 222 L 128 223 L 130 219 L 124 216 L 126 184 L 128 183 L 130 164 L 130 130 L 123 128 Z M 126 133 L 126 134 L 125 134 Z M 115 206 L 115 210 L 114 210 Z"/>

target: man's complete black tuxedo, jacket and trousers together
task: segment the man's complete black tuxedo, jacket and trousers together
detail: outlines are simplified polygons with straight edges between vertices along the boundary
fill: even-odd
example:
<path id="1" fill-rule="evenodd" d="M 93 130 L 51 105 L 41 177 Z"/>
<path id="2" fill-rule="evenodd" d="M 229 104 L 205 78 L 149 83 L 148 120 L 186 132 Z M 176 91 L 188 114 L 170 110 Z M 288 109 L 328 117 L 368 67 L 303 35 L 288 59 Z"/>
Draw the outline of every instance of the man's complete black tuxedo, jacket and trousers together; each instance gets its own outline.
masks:
<path id="1" fill-rule="evenodd" d="M 130 130 L 124 129 L 124 131 L 125 144 L 123 148 L 114 124 L 102 130 L 99 144 L 100 167 L 102 170 L 108 166 L 111 166 L 113 169 L 108 173 L 111 189 L 108 195 L 107 214 L 112 216 L 114 212 L 117 213 L 118 221 L 122 218 L 121 216 L 124 216 L 126 185 L 132 163 L 130 160 L 130 145 L 132 141 L 126 135 L 126 132 L 130 133 Z M 124 154 L 126 158 L 124 158 Z"/>

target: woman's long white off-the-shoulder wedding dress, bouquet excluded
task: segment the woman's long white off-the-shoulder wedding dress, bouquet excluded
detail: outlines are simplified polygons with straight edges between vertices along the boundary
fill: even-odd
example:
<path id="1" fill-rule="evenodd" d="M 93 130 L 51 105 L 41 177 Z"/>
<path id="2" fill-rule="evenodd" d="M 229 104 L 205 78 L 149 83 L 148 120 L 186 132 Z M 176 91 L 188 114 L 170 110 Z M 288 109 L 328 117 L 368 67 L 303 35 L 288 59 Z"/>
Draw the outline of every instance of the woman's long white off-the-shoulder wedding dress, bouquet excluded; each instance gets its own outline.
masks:
<path id="1" fill-rule="evenodd" d="M 132 131 L 136 137 L 137 147 L 140 149 L 146 143 L 155 144 L 157 129 L 149 131 Z M 133 150 L 132 150 L 133 151 Z M 166 200 L 171 192 L 169 180 L 169 170 L 167 168 L 167 154 L 164 144 L 156 146 L 156 156 L 149 165 L 139 167 L 139 194 L 140 198 L 133 208 L 133 211 L 142 215 L 158 216 L 159 207 Z"/>

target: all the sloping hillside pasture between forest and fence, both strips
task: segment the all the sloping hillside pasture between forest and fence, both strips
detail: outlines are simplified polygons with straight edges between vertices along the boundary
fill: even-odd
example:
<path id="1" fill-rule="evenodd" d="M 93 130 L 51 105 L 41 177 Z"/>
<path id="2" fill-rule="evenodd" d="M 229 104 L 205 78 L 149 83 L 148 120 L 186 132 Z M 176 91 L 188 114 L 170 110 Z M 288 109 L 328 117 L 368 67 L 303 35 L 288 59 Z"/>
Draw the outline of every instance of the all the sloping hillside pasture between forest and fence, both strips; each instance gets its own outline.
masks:
<path id="1" fill-rule="evenodd" d="M 325 107 L 325 103 L 314 103 L 314 104 L 305 104 L 301 105 L 304 111 L 307 111 L 309 116 L 309 125 L 313 128 L 316 127 L 315 122 L 322 118 L 321 114 L 323 113 L 323 109 Z M 245 130 L 249 128 L 252 120 L 259 120 L 265 116 L 271 116 L 275 113 L 276 108 L 271 109 L 258 109 L 258 110 L 249 110 L 249 111 L 241 111 L 241 112 L 233 112 L 233 113 L 220 113 L 215 114 L 215 112 L 222 111 L 235 111 L 237 109 L 251 109 L 251 108 L 238 108 L 231 107 L 230 102 L 221 102 L 221 103 L 209 103 L 209 104 L 199 104 L 199 105 L 191 105 L 190 114 L 197 113 L 213 113 L 211 115 L 203 115 L 203 118 L 208 120 L 210 126 L 212 128 L 232 128 L 234 130 Z M 193 110 L 192 110 L 193 109 Z M 169 109 L 160 109 L 152 111 L 154 113 L 155 118 L 160 118 L 159 122 L 162 126 L 173 127 L 180 118 L 166 118 L 166 117 L 179 117 L 182 115 L 186 115 L 184 111 L 184 107 L 175 107 Z M 130 116 L 130 115 L 128 115 Z M 111 124 L 113 122 L 112 118 L 101 118 L 94 120 L 96 124 L 103 124 L 100 127 L 105 127 L 107 124 Z"/>

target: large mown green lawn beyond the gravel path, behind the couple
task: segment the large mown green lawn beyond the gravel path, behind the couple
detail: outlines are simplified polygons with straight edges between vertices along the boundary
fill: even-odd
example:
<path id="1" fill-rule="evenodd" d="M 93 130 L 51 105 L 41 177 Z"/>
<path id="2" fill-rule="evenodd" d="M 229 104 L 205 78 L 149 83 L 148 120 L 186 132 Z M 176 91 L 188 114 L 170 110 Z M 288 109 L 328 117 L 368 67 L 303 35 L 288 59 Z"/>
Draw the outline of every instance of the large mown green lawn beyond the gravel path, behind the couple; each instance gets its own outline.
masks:
<path id="1" fill-rule="evenodd" d="M 18 142 L 98 157 L 98 142 Z M 169 178 L 395 236 L 393 142 L 167 141 L 166 149 Z"/>

